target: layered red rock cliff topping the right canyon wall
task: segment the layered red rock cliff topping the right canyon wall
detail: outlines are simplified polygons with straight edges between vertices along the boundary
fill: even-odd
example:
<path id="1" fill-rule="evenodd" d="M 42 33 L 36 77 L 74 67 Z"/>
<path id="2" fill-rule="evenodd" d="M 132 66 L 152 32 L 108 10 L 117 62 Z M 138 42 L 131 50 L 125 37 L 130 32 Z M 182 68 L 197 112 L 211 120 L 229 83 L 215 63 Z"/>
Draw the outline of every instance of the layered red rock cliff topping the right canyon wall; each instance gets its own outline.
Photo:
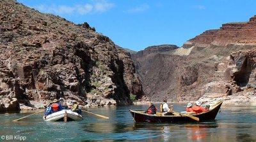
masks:
<path id="1" fill-rule="evenodd" d="M 207 30 L 189 40 L 193 44 L 227 45 L 244 43 L 256 45 L 256 15 L 248 22 L 231 22 L 223 24 L 220 29 Z"/>

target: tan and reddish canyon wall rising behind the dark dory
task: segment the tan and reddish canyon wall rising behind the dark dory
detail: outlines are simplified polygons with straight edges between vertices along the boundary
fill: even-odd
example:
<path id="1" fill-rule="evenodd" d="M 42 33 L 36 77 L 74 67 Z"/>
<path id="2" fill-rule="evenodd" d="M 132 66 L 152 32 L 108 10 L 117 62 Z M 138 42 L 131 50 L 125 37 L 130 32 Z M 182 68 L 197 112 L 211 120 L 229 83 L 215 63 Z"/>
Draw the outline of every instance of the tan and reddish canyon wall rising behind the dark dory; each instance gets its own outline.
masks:
<path id="1" fill-rule="evenodd" d="M 255 39 L 256 16 L 205 31 L 179 49 L 143 56 L 137 52 L 132 59 L 145 95 L 152 100 L 254 104 Z"/>

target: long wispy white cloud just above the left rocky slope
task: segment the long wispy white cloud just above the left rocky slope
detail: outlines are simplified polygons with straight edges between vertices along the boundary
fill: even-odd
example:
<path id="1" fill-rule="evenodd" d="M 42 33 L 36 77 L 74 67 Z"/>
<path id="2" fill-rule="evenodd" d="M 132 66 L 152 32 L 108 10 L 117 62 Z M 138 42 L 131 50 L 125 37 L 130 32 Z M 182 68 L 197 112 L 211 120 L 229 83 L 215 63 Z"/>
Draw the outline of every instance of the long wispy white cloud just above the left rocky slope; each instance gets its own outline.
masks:
<path id="1" fill-rule="evenodd" d="M 36 10 L 44 13 L 55 13 L 55 14 L 79 14 L 86 15 L 88 13 L 102 13 L 110 10 L 115 6 L 113 3 L 108 3 L 106 0 L 93 0 L 93 3 L 76 4 L 73 6 L 67 5 L 45 5 L 40 4 L 32 6 Z"/>

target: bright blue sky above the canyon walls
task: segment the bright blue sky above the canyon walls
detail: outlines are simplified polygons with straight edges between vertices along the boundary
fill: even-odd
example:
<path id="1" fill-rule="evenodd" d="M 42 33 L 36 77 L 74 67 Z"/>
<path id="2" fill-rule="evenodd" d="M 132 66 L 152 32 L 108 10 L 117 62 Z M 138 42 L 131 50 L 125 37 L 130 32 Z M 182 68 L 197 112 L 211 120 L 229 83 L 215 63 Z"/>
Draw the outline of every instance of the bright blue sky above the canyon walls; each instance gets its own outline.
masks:
<path id="1" fill-rule="evenodd" d="M 140 51 L 150 45 L 181 46 L 225 22 L 248 21 L 254 0 L 17 0 L 40 12 L 76 24 L 88 22 L 121 47 Z"/>

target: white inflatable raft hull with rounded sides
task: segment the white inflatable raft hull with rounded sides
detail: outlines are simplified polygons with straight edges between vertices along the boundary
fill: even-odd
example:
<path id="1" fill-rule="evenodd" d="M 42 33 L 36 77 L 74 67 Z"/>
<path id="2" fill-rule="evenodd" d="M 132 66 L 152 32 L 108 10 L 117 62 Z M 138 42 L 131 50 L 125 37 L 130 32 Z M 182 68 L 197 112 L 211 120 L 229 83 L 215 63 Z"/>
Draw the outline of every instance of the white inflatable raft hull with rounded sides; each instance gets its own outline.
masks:
<path id="1" fill-rule="evenodd" d="M 83 116 L 71 110 L 58 111 L 56 113 L 47 115 L 46 118 L 43 118 L 46 122 L 63 122 L 65 115 L 67 115 L 67 122 L 83 120 Z"/>

